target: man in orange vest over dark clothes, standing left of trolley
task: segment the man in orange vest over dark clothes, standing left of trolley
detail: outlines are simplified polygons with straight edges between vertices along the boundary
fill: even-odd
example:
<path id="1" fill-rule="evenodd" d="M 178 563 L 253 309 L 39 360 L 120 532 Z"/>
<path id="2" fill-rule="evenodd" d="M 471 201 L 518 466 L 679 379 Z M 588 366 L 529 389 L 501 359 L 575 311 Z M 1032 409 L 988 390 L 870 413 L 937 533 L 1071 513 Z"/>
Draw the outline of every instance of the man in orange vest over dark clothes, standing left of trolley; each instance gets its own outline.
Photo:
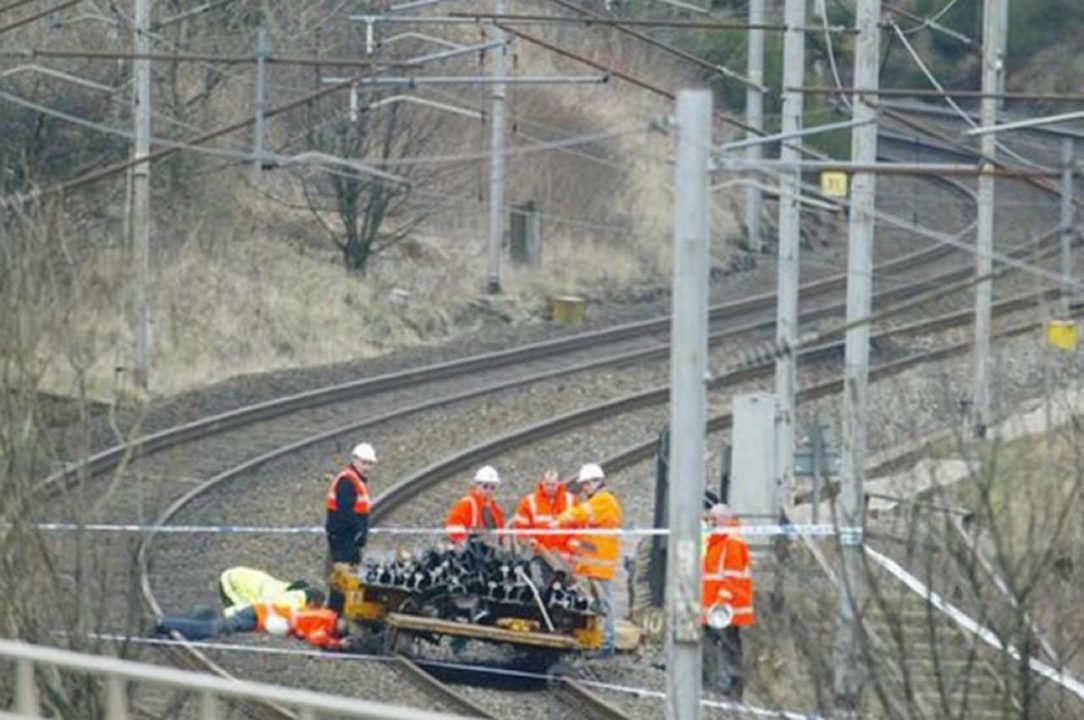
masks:
<path id="1" fill-rule="evenodd" d="M 324 530 L 327 533 L 328 577 L 335 570 L 353 574 L 361 563 L 372 509 L 369 483 L 375 468 L 376 451 L 367 442 L 361 442 L 350 453 L 350 464 L 327 487 Z M 327 606 L 341 613 L 345 603 L 346 597 L 333 587 Z"/>

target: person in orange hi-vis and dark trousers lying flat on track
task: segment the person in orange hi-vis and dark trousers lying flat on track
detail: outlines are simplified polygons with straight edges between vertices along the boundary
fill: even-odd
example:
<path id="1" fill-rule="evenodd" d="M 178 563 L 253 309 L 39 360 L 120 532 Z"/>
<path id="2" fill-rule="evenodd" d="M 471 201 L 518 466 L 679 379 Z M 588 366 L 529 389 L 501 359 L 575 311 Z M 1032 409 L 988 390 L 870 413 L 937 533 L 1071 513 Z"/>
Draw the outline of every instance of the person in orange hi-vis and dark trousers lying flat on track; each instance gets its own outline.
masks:
<path id="1" fill-rule="evenodd" d="M 254 603 L 238 608 L 229 617 L 214 612 L 192 616 L 167 615 L 155 623 L 155 634 L 177 632 L 189 640 L 206 640 L 234 632 L 267 632 L 289 635 L 310 645 L 326 650 L 348 650 L 352 641 L 347 637 L 348 626 L 338 613 L 321 607 L 324 594 L 309 590 L 309 604 L 302 608 L 274 603 Z"/>

